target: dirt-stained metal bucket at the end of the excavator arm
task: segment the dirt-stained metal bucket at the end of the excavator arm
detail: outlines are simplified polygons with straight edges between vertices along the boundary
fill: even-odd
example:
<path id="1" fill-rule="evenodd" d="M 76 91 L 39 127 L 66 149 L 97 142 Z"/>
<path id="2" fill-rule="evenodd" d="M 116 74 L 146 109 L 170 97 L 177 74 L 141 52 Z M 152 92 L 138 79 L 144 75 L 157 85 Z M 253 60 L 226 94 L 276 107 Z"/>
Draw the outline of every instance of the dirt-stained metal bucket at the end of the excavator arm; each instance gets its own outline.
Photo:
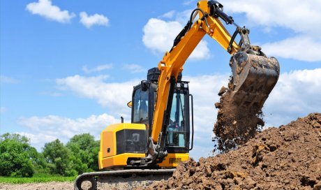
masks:
<path id="1" fill-rule="evenodd" d="M 240 51 L 231 57 L 230 66 L 230 103 L 237 107 L 262 108 L 278 81 L 278 60 Z"/>

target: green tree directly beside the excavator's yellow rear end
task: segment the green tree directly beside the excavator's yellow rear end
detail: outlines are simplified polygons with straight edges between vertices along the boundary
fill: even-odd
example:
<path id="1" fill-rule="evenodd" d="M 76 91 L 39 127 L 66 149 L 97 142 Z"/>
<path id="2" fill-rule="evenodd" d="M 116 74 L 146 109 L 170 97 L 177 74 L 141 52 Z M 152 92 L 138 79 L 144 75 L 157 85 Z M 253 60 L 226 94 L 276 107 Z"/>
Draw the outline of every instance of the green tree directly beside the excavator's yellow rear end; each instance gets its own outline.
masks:
<path id="1" fill-rule="evenodd" d="M 99 140 L 89 133 L 75 135 L 66 145 L 72 152 L 70 168 L 78 174 L 98 170 Z"/>

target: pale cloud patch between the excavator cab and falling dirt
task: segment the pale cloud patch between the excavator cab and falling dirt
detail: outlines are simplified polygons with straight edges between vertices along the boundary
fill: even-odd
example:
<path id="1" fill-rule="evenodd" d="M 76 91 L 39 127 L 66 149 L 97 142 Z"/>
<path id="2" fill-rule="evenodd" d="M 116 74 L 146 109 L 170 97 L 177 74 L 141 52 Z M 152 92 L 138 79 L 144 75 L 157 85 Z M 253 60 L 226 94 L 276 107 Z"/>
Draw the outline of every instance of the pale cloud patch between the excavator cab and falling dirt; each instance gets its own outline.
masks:
<path id="1" fill-rule="evenodd" d="M 214 103 L 219 101 L 218 91 L 223 85 L 227 85 L 228 79 L 228 74 L 184 76 L 184 80 L 190 81 L 189 89 L 193 94 L 195 131 L 194 148 L 190 154 L 194 159 L 211 156 L 211 151 L 214 149 L 214 144 L 211 142 L 217 115 Z"/>

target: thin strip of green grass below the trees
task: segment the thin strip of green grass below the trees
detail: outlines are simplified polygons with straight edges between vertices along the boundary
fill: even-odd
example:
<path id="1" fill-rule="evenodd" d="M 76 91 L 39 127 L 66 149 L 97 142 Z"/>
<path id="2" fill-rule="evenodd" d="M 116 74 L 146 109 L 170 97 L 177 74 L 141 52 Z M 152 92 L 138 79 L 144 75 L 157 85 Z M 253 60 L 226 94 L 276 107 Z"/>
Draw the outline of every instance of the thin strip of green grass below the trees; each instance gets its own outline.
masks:
<path id="1" fill-rule="evenodd" d="M 35 177 L 2 177 L 0 183 L 7 184 L 27 184 L 27 183 L 45 183 L 45 182 L 74 182 L 76 177 L 63 176 L 35 176 Z"/>

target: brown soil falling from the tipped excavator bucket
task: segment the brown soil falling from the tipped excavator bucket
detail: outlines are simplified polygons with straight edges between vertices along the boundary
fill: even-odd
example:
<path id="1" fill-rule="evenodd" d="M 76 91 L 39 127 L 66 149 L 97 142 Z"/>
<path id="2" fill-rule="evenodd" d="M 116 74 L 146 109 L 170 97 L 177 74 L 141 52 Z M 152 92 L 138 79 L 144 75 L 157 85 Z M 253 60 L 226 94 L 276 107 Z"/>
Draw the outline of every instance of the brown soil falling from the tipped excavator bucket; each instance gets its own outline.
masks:
<path id="1" fill-rule="evenodd" d="M 214 125 L 214 147 L 216 153 L 226 153 L 231 149 L 236 149 L 237 145 L 243 145 L 249 139 L 253 138 L 257 131 L 262 129 L 264 122 L 260 117 L 262 111 L 255 106 L 237 107 L 230 101 L 233 89 L 232 77 L 229 88 L 222 87 L 218 93 L 220 103 L 216 103 L 218 108 L 217 121 Z"/>

